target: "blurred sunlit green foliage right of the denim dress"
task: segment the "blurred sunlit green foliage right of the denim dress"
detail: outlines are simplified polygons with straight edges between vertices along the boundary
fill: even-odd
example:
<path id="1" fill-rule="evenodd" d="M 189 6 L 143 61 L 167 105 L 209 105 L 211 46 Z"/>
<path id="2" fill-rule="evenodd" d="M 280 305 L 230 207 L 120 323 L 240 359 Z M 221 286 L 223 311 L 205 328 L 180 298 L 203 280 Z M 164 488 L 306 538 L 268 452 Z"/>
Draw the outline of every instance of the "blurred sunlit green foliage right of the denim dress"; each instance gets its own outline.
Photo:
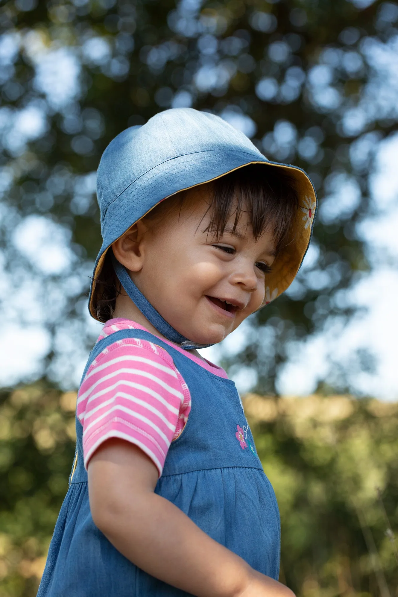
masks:
<path id="1" fill-rule="evenodd" d="M 251 395 L 245 411 L 279 503 L 283 581 L 300 597 L 398 595 L 398 404 Z"/>

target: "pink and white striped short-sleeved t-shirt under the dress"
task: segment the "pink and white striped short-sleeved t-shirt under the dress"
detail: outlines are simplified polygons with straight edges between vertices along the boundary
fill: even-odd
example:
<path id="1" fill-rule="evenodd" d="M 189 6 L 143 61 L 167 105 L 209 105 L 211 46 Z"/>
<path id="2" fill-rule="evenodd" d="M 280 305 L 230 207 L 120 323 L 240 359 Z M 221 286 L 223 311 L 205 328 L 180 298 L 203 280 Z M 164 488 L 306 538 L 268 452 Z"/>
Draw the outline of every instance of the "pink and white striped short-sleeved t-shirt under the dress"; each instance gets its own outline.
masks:
<path id="1" fill-rule="evenodd" d="M 146 330 L 129 319 L 110 319 L 98 340 L 126 328 Z M 221 367 L 163 341 L 200 367 L 227 377 Z M 169 445 L 184 429 L 190 408 L 187 384 L 166 350 L 138 338 L 110 344 L 92 361 L 78 393 L 86 469 L 98 446 L 121 438 L 141 448 L 160 476 Z"/>

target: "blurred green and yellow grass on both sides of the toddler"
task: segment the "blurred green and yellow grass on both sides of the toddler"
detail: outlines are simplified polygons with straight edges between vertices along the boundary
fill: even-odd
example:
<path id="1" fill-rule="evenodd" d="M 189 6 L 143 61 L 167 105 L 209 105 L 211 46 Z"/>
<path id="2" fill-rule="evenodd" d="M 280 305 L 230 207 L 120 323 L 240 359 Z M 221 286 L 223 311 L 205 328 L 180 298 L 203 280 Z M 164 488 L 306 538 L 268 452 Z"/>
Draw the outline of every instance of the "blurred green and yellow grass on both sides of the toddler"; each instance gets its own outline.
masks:
<path id="1" fill-rule="evenodd" d="M 75 401 L 44 382 L 0 394 L 0 597 L 36 595 Z M 398 597 L 398 404 L 248 395 L 244 405 L 279 502 L 280 579 L 299 597 Z"/>

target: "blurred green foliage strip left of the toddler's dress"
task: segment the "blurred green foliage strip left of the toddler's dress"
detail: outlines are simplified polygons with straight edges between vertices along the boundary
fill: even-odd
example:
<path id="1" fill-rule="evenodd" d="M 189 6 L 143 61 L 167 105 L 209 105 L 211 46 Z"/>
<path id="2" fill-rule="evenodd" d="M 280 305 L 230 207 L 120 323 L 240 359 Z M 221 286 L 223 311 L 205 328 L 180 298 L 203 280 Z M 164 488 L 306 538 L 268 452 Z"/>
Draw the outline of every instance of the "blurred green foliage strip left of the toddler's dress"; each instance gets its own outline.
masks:
<path id="1" fill-rule="evenodd" d="M 30 597 L 67 491 L 76 393 L 36 383 L 0 401 L 0 595 Z"/>

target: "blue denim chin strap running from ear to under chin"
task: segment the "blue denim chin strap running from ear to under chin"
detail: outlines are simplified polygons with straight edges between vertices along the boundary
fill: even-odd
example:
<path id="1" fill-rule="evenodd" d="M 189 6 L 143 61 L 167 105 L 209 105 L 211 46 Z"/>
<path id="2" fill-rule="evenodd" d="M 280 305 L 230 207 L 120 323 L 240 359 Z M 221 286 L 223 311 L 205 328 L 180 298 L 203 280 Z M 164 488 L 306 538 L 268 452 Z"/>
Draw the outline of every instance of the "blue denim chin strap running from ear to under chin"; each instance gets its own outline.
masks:
<path id="1" fill-rule="evenodd" d="M 127 269 L 124 265 L 119 263 L 116 257 L 112 254 L 112 265 L 115 270 L 116 276 L 118 276 L 119 282 L 121 283 L 132 302 L 135 304 L 141 313 L 147 318 L 147 320 L 158 330 L 162 336 L 178 344 L 184 350 L 193 350 L 196 348 L 207 348 L 208 346 L 214 346 L 214 344 L 198 344 L 188 340 L 185 336 L 182 336 L 177 330 L 174 330 L 165 319 L 162 318 L 161 314 L 156 311 L 155 307 L 150 304 L 149 300 L 144 297 L 143 293 L 138 290 L 130 276 L 128 275 Z"/>

